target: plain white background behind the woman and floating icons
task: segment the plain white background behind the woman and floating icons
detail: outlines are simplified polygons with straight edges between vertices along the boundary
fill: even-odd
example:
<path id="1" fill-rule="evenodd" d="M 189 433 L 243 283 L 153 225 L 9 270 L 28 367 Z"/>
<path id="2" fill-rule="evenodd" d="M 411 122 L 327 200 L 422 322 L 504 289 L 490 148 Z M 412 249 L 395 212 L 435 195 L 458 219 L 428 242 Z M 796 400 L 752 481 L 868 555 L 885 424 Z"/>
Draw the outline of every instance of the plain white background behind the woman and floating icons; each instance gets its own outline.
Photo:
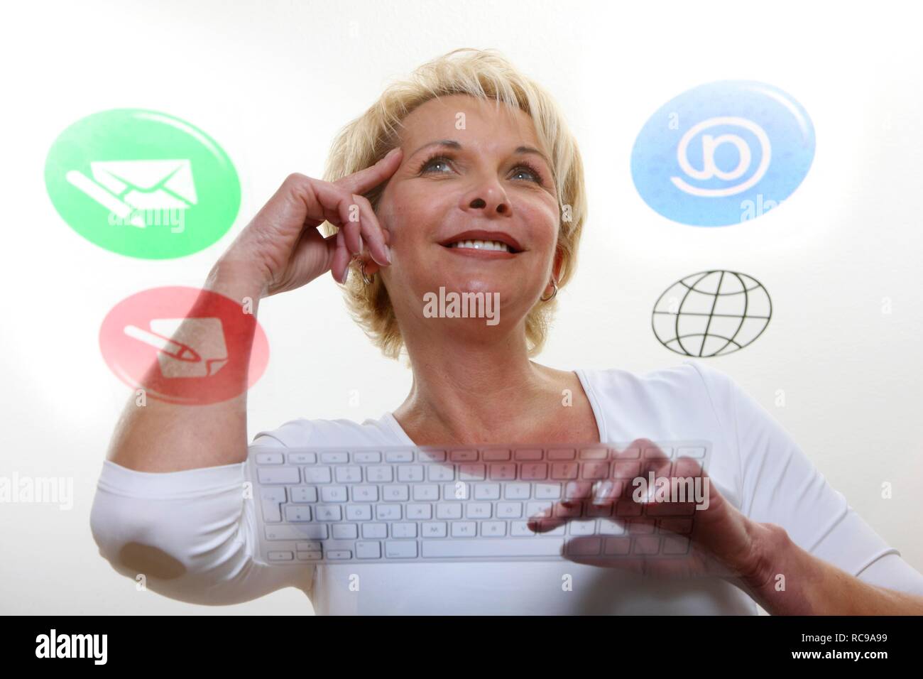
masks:
<path id="1" fill-rule="evenodd" d="M 73 477 L 76 498 L 69 512 L 0 504 L 0 612 L 311 611 L 295 589 L 219 609 L 138 592 L 99 556 L 90 506 L 129 396 L 102 361 L 100 323 L 139 290 L 201 285 L 286 175 L 320 176 L 336 130 L 388 79 L 465 46 L 500 49 L 552 91 L 585 160 L 580 268 L 538 360 L 565 370 L 677 365 L 651 331 L 661 292 L 705 269 L 754 276 L 773 298 L 769 328 L 743 351 L 704 360 L 766 406 L 923 569 L 923 42 L 907 6 L 122 0 L 5 11 L 0 476 Z M 635 191 L 631 146 L 663 103 L 717 79 L 762 80 L 795 97 L 817 154 L 777 211 L 724 228 L 674 224 Z M 43 183 L 50 145 L 78 118 L 115 107 L 176 115 L 230 154 L 243 202 L 222 240 L 180 260 L 134 260 L 54 212 Z M 251 436 L 297 417 L 378 418 L 407 394 L 409 370 L 368 343 L 329 274 L 264 301 L 259 321 L 270 365 L 250 392 Z"/>

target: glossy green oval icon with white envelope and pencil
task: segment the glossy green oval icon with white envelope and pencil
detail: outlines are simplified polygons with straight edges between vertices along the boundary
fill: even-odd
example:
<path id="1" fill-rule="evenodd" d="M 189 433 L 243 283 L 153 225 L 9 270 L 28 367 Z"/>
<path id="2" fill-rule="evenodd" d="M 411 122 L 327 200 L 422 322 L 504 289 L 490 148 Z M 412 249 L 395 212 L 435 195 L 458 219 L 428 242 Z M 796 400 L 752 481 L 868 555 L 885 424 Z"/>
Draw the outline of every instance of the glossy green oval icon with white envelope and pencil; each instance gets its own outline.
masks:
<path id="1" fill-rule="evenodd" d="M 102 111 L 67 127 L 48 152 L 45 186 L 80 236 L 146 260 L 208 248 L 240 209 L 240 182 L 222 148 L 157 111 Z"/>

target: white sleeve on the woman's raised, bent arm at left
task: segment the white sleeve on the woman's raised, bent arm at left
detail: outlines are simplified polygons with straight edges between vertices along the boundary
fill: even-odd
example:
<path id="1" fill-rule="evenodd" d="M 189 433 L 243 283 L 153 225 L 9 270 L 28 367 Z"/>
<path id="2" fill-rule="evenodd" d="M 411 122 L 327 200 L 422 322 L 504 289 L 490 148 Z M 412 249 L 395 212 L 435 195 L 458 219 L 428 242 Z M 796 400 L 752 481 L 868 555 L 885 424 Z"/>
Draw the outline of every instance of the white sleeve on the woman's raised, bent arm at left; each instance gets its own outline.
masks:
<path id="1" fill-rule="evenodd" d="M 90 513 L 102 557 L 124 576 L 143 575 L 147 588 L 191 603 L 240 603 L 286 587 L 310 596 L 313 566 L 254 560 L 258 525 L 255 502 L 245 499 L 245 465 L 150 473 L 106 460 Z"/>

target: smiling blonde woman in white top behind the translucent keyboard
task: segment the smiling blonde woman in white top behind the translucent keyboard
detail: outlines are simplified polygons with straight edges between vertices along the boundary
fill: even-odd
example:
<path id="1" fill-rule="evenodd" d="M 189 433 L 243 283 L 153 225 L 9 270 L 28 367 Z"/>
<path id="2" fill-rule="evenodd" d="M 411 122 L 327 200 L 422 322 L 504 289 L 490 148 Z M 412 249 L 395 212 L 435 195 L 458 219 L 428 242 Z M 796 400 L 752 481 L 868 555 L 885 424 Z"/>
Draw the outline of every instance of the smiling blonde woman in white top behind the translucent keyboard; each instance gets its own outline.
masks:
<path id="1" fill-rule="evenodd" d="M 254 443 L 706 439 L 711 502 L 697 516 L 692 555 L 681 572 L 593 557 L 260 564 L 254 503 L 241 498 L 241 375 L 231 401 L 126 407 L 91 517 L 120 573 L 201 603 L 302 588 L 319 613 L 753 613 L 754 601 L 773 613 L 923 612 L 923 576 L 723 373 L 697 361 L 636 376 L 530 359 L 574 271 L 586 201 L 557 105 L 500 55 L 456 50 L 391 86 L 342 130 L 325 177 L 289 176 L 205 287 L 256 305 L 330 271 L 383 353 L 406 349 L 413 387 L 378 420 L 299 419 Z M 499 322 L 430 318 L 421 300 L 440 286 L 496 293 Z M 571 405 L 562 394 L 573 394 Z"/>

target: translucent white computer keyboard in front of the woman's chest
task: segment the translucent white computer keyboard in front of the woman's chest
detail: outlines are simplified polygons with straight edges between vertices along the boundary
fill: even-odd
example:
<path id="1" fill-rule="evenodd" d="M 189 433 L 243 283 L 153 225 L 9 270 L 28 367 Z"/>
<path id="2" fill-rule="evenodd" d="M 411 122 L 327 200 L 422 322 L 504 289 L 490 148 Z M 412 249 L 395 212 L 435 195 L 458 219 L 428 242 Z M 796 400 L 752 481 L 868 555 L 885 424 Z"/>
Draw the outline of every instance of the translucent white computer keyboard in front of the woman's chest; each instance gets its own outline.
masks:
<path id="1" fill-rule="evenodd" d="M 634 479 L 652 479 L 652 467 L 658 476 L 689 479 L 689 469 L 707 470 L 711 445 L 632 443 L 254 446 L 247 470 L 259 555 L 271 564 L 549 561 L 563 559 L 562 547 L 581 537 L 573 544 L 583 554 L 684 556 L 691 502 L 638 503 L 623 495 L 597 505 L 593 492 L 611 484 L 631 493 Z M 542 515 L 554 527 L 535 533 L 528 520 Z M 619 520 L 641 516 L 648 520 Z"/>

